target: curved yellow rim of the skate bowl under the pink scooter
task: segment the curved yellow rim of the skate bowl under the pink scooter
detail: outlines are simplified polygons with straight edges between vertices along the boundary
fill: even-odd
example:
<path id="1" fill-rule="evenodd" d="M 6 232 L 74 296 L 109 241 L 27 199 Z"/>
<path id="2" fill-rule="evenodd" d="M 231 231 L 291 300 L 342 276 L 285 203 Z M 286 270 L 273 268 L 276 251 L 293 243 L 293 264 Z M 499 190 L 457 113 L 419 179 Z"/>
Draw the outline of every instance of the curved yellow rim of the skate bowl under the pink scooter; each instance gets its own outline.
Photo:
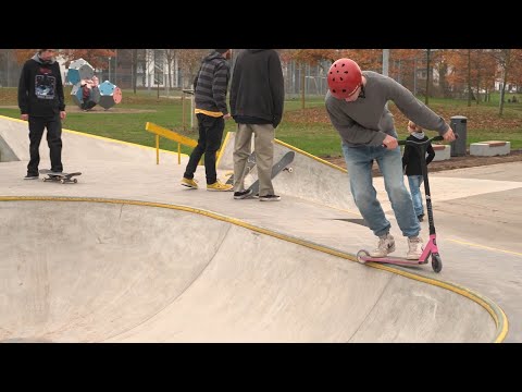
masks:
<path id="1" fill-rule="evenodd" d="M 167 209 L 174 209 L 174 210 L 181 210 L 181 211 L 187 211 L 187 212 L 192 212 L 192 213 L 199 213 L 209 218 L 213 218 L 216 220 L 225 221 L 232 224 L 239 225 L 241 228 L 256 231 L 258 233 L 266 234 L 283 241 L 291 242 L 294 244 L 302 245 L 311 249 L 315 249 L 319 252 L 323 252 L 333 256 L 337 256 L 344 259 L 348 259 L 351 261 L 357 262 L 357 257 L 353 255 L 336 250 L 333 248 L 330 248 L 327 246 L 314 244 L 312 242 L 308 242 L 301 238 L 293 237 L 286 234 L 281 234 L 272 230 L 263 229 L 263 228 L 258 228 L 254 226 L 250 223 L 237 220 L 235 218 L 222 216 L 216 212 L 211 212 L 208 210 L 199 209 L 199 208 L 194 208 L 194 207 L 187 207 L 187 206 L 181 206 L 181 205 L 169 205 L 169 204 L 162 204 L 162 203 L 153 203 L 153 201 L 140 201 L 140 200 L 125 200 L 125 199 L 111 199 L 111 198 L 99 198 L 99 197 L 62 197 L 62 196 L 0 196 L 0 201 L 16 201 L 16 200 L 39 200 L 39 201 L 90 201 L 90 203 L 108 203 L 108 204 L 126 204 L 126 205 L 135 205 L 135 206 L 148 206 L 148 207 L 159 207 L 159 208 L 167 208 Z M 495 340 L 493 341 L 494 343 L 500 343 L 506 339 L 506 335 L 508 334 L 509 330 L 509 322 L 506 314 L 504 310 L 495 304 L 493 301 L 490 301 L 487 297 L 484 297 L 467 287 L 460 286 L 455 283 L 449 283 L 449 282 L 444 282 L 437 279 L 433 278 L 427 278 L 423 277 L 417 273 L 408 272 L 398 268 L 389 267 L 389 266 L 384 266 L 381 264 L 376 262 L 369 262 L 366 264 L 369 267 L 385 270 L 391 273 L 400 274 L 402 277 L 413 279 L 423 283 L 432 284 L 438 287 L 443 287 L 446 290 L 449 290 L 453 293 L 460 294 L 476 304 L 481 305 L 483 308 L 487 310 L 487 313 L 492 316 L 492 318 L 495 321 L 495 324 L 497 327 L 497 335 Z"/>

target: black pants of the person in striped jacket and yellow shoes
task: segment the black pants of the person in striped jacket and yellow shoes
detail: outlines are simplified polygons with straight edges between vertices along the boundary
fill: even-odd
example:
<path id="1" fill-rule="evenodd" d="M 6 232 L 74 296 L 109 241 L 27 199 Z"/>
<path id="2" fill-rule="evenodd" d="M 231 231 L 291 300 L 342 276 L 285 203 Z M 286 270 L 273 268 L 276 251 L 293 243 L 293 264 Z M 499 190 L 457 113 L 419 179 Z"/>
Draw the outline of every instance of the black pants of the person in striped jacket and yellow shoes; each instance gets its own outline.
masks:
<path id="1" fill-rule="evenodd" d="M 198 118 L 199 139 L 194 148 L 185 169 L 185 179 L 194 179 L 194 173 L 198 168 L 198 162 L 204 154 L 204 172 L 207 174 L 207 184 L 213 184 L 217 180 L 215 172 L 215 152 L 220 149 L 223 131 L 225 130 L 225 120 L 223 117 L 213 118 L 202 113 L 196 114 Z"/>

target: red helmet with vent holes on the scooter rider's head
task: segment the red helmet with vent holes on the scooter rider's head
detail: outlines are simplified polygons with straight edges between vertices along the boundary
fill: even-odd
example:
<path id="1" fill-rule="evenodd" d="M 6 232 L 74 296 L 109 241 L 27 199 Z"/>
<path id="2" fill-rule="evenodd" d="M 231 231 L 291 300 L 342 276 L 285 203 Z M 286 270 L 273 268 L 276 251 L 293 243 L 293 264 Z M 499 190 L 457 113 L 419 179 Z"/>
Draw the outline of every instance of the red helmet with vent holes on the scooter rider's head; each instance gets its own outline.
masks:
<path id="1" fill-rule="evenodd" d="M 353 60 L 339 59 L 328 70 L 330 94 L 337 99 L 348 98 L 361 83 L 361 69 Z"/>

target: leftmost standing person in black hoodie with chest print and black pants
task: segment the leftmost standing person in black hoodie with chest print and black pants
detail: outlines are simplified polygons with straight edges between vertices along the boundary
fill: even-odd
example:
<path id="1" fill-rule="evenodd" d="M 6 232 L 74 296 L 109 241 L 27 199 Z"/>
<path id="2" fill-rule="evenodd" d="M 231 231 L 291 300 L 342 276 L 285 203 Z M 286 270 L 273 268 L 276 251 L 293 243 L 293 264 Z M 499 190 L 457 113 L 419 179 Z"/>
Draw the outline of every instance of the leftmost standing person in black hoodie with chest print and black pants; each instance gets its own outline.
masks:
<path id="1" fill-rule="evenodd" d="M 54 53 L 54 49 L 38 49 L 38 52 L 25 62 L 20 76 L 21 119 L 29 122 L 30 160 L 25 180 L 38 179 L 39 147 L 46 127 L 51 170 L 57 173 L 63 171 L 62 120 L 66 112 L 62 75 Z"/>

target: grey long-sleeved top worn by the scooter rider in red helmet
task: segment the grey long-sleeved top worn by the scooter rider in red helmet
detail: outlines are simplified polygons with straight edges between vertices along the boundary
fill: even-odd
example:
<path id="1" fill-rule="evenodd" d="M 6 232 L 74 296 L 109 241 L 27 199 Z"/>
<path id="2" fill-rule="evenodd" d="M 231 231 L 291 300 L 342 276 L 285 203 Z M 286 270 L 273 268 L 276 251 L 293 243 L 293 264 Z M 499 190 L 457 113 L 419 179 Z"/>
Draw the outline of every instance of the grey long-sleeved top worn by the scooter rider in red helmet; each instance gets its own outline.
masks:
<path id="1" fill-rule="evenodd" d="M 440 135 L 449 130 L 442 117 L 433 112 L 415 96 L 391 77 L 363 71 L 366 78 L 364 97 L 352 102 L 326 94 L 325 105 L 332 124 L 348 146 L 380 146 L 386 135 L 396 137 L 394 115 L 386 108 L 391 100 L 415 124 Z"/>

